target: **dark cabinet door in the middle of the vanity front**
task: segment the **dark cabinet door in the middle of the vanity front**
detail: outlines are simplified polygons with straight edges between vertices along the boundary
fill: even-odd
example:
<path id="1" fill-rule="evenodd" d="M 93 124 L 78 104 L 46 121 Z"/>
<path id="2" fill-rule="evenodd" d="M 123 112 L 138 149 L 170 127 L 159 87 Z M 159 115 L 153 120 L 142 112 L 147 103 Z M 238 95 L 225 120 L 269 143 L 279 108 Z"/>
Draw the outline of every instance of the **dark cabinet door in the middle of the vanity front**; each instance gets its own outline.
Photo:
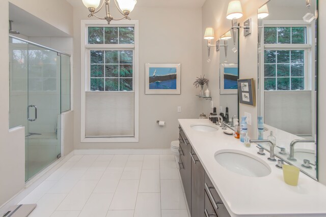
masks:
<path id="1" fill-rule="evenodd" d="M 194 150 L 192 159 L 192 217 L 203 217 L 205 207 L 205 169 L 200 163 Z"/>

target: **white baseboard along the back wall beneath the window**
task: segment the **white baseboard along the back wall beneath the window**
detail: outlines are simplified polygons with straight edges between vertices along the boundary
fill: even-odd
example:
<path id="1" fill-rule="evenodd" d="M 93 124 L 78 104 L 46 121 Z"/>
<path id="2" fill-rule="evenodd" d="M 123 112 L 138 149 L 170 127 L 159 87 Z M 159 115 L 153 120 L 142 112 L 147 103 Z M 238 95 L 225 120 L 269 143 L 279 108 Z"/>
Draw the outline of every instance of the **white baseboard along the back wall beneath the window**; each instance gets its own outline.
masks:
<path id="1" fill-rule="evenodd" d="M 153 149 L 75 149 L 74 154 L 173 154 L 170 148 Z"/>

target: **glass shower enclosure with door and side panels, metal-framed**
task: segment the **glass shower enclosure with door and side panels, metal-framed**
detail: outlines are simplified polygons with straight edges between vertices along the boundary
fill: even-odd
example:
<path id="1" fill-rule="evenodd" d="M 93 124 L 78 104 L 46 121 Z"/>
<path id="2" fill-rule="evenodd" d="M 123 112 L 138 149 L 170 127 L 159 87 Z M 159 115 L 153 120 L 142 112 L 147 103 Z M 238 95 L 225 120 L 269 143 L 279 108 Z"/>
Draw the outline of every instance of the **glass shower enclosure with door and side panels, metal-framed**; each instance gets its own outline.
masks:
<path id="1" fill-rule="evenodd" d="M 70 110 L 70 55 L 9 36 L 10 128 L 25 127 L 25 180 L 61 156 Z"/>

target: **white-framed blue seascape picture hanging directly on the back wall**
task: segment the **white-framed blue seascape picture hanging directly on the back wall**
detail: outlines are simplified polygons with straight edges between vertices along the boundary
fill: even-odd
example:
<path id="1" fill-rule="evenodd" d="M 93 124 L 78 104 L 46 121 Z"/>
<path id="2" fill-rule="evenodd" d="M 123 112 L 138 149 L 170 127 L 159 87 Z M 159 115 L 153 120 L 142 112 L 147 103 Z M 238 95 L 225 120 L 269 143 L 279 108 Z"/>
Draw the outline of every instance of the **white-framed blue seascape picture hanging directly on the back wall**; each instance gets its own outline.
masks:
<path id="1" fill-rule="evenodd" d="M 181 64 L 145 64 L 145 94 L 180 94 Z"/>

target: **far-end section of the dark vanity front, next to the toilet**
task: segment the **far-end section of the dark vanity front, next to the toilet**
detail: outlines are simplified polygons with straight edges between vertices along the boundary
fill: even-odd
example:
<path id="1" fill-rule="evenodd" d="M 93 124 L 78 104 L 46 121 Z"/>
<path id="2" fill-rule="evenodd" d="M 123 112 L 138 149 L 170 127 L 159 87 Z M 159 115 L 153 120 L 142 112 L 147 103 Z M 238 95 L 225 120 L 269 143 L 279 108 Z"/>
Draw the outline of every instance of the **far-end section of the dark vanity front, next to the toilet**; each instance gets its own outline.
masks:
<path id="1" fill-rule="evenodd" d="M 179 169 L 189 210 L 192 207 L 192 160 L 190 157 L 191 145 L 179 126 Z"/>

